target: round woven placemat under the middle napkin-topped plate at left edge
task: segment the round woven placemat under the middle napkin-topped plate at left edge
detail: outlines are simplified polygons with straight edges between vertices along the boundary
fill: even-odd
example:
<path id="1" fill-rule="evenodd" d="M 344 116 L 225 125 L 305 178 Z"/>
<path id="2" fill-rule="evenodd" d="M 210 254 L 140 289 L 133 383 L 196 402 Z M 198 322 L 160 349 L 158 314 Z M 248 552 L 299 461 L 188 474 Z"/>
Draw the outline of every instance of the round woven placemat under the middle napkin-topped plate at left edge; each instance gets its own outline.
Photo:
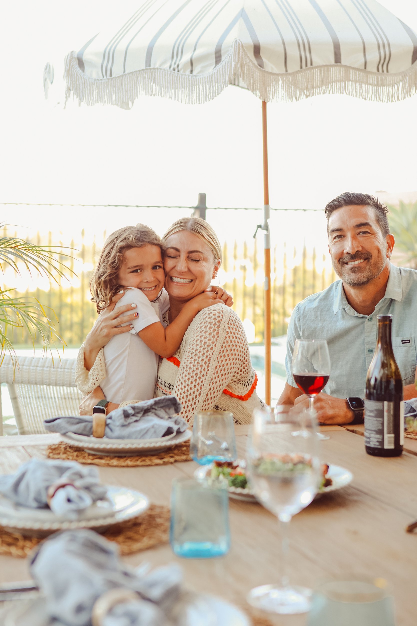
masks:
<path id="1" fill-rule="evenodd" d="M 148 550 L 160 543 L 167 543 L 169 526 L 170 510 L 168 506 L 150 505 L 140 517 L 114 524 L 101 535 L 109 541 L 116 541 L 120 548 L 120 554 L 127 555 Z M 7 554 L 11 557 L 27 557 L 29 552 L 41 541 L 43 541 L 42 537 L 10 533 L 0 526 L 0 554 Z"/>

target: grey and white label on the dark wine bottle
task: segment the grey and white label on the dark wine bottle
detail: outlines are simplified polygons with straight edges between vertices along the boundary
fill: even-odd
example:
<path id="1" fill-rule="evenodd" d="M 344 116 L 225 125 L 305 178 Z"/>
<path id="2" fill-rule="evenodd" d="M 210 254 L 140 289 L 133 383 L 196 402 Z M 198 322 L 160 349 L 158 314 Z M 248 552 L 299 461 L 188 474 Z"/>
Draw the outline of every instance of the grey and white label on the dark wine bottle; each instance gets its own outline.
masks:
<path id="1" fill-rule="evenodd" d="M 393 402 L 365 400 L 365 445 L 371 448 L 394 448 Z"/>

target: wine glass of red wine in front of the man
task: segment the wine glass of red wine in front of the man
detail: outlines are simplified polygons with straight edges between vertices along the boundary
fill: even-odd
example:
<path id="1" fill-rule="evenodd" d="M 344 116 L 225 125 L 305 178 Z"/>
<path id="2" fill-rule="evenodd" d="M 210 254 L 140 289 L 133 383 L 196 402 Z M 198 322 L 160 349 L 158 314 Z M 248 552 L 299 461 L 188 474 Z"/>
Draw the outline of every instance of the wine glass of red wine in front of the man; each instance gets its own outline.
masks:
<path id="1" fill-rule="evenodd" d="M 291 369 L 297 387 L 309 396 L 310 411 L 314 411 L 314 398 L 324 389 L 330 376 L 327 341 L 325 339 L 296 339 Z M 320 439 L 329 439 L 326 434 L 317 434 Z"/>

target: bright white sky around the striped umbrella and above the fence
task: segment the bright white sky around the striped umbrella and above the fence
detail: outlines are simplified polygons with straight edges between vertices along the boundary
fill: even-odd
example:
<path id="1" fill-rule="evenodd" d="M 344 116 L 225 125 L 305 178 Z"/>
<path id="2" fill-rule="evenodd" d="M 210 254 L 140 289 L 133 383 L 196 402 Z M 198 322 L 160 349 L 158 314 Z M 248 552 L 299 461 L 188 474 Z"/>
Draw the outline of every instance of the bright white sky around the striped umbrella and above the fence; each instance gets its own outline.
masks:
<path id="1" fill-rule="evenodd" d="M 417 3 L 381 4 L 417 31 Z M 205 191 L 209 206 L 260 207 L 261 109 L 252 93 L 229 87 L 200 106 L 142 98 L 131 111 L 63 110 L 62 100 L 54 108 L 44 100 L 45 62 L 58 61 L 61 73 L 66 52 L 90 39 L 97 14 L 112 6 L 114 0 L 4 4 L 0 202 L 194 205 Z M 415 190 L 416 106 L 417 97 L 386 105 L 347 96 L 268 105 L 270 204 L 323 208 L 345 190 Z M 260 214 L 237 215 L 231 212 L 225 223 L 222 217 L 219 226 L 237 235 L 249 229 L 251 237 Z M 98 215 L 46 208 L 1 218 L 35 231 L 56 223 L 66 236 L 75 228 L 109 232 L 125 218 L 136 221 L 123 210 Z M 160 224 L 160 216 L 150 222 Z M 273 222 L 273 242 L 281 242 L 284 222 Z M 299 237 L 317 233 L 308 218 L 298 223 Z M 324 222 L 315 223 L 322 233 Z"/>

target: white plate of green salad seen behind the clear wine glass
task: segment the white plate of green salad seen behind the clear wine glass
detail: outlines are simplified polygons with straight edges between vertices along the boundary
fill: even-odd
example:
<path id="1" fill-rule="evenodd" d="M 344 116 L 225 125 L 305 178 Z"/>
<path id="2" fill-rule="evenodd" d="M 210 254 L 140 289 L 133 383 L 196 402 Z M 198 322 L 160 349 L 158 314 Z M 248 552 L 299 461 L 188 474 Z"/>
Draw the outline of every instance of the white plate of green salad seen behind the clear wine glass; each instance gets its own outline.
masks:
<path id="1" fill-rule="evenodd" d="M 349 485 L 353 474 L 338 465 L 322 464 L 322 480 L 317 496 L 336 491 Z M 214 461 L 210 465 L 203 465 L 194 472 L 197 480 L 227 481 L 227 491 L 230 498 L 255 502 L 255 494 L 250 488 L 246 475 L 246 461 Z M 316 497 L 317 497 L 316 496 Z"/>

